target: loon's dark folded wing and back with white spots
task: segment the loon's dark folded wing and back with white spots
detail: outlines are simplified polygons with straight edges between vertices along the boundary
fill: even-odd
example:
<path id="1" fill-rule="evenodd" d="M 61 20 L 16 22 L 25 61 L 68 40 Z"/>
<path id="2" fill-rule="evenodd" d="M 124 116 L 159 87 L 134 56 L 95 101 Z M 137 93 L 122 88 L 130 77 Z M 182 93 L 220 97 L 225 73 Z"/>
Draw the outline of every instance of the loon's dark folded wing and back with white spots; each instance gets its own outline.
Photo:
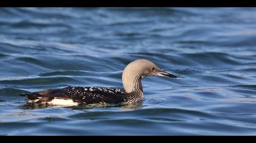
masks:
<path id="1" fill-rule="evenodd" d="M 73 99 L 86 104 L 93 103 L 119 103 L 124 101 L 125 91 L 118 88 L 107 87 L 66 87 L 56 90 L 44 90 L 26 96 L 27 98 L 63 98 Z"/>

